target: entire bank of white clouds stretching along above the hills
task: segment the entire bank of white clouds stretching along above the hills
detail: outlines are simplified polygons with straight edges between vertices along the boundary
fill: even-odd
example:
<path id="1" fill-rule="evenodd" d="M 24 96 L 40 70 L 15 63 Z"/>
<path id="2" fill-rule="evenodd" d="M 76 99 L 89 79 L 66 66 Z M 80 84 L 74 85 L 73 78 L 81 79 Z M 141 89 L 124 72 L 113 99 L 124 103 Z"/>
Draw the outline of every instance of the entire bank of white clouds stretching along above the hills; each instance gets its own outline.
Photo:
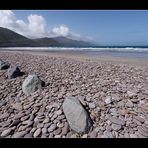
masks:
<path id="1" fill-rule="evenodd" d="M 46 30 L 47 23 L 43 16 L 30 14 L 27 22 L 24 22 L 17 19 L 11 10 L 0 10 L 0 27 L 11 29 L 29 38 L 64 36 L 75 40 L 82 39 L 80 34 L 71 32 L 64 24 Z"/>

